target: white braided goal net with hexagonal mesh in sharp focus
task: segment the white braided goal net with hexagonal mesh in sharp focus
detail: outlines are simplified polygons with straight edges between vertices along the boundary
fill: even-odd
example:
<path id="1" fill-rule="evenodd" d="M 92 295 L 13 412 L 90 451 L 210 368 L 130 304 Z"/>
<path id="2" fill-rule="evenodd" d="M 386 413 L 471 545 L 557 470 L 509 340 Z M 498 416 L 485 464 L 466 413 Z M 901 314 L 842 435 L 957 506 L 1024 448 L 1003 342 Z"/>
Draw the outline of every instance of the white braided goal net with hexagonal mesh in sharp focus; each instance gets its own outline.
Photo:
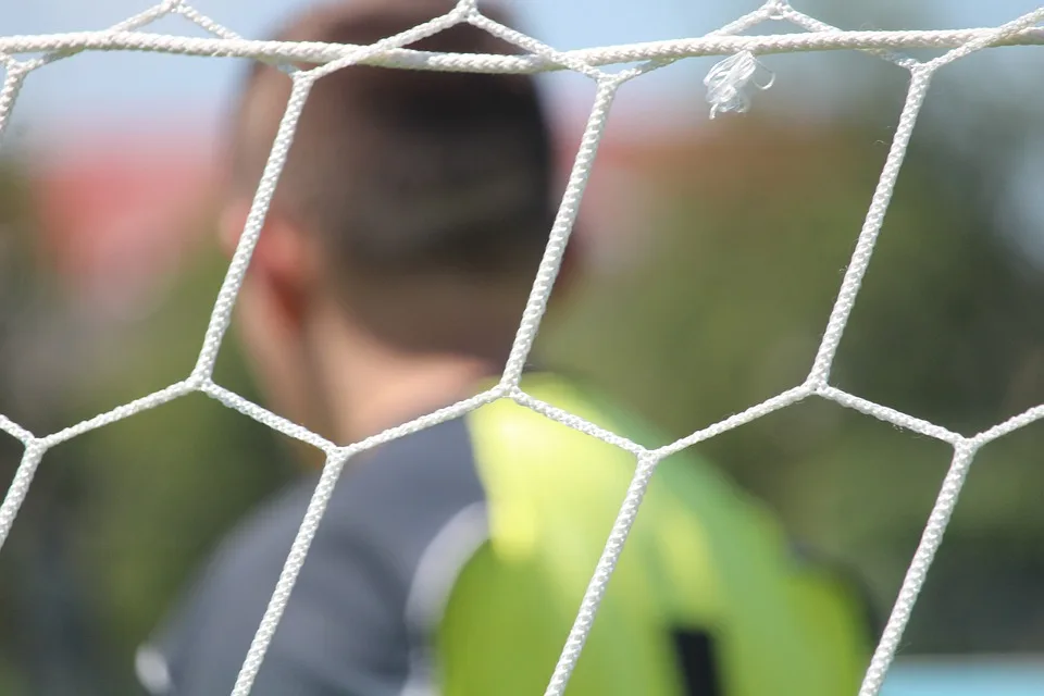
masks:
<path id="1" fill-rule="evenodd" d="M 188 38 L 142 30 L 157 20 L 172 15 L 181 15 L 206 30 L 210 38 Z M 0 142 L 10 124 L 18 92 L 32 73 L 83 51 L 151 51 L 185 55 L 253 58 L 279 65 L 291 73 L 294 80 L 294 89 L 288 99 L 278 135 L 273 142 L 264 174 L 256 191 L 244 234 L 240 236 L 225 281 L 212 307 L 211 319 L 192 372 L 185 380 L 45 436 L 35 435 L 10 418 L 0 414 L 0 431 L 20 440 L 25 448 L 22 461 L 0 502 L 0 549 L 29 492 L 34 474 L 49 448 L 189 394 L 202 393 L 274 431 L 323 451 L 326 457 L 323 473 L 232 692 L 233 696 L 248 696 L 258 670 L 263 663 L 265 650 L 278 627 L 279 617 L 286 607 L 295 580 L 307 559 L 309 544 L 322 521 L 323 511 L 346 463 L 359 452 L 389 440 L 459 418 L 497 399 L 511 399 L 545 418 L 624 449 L 633 455 L 636 461 L 634 476 L 621 502 L 620 512 L 594 569 L 560 658 L 549 675 L 545 696 L 562 696 L 594 624 L 598 606 L 626 543 L 627 533 L 649 482 L 655 475 L 657 463 L 686 447 L 750 423 L 773 411 L 818 397 L 897 427 L 945 442 L 953 448 L 949 470 L 942 482 L 921 540 L 910 561 L 881 641 L 873 652 L 858 692 L 858 696 L 877 696 L 884 684 L 932 560 L 942 544 L 975 452 L 986 444 L 1044 418 L 1044 405 L 1028 409 L 979 434 L 966 436 L 885 405 L 843 391 L 829 384 L 830 369 L 841 347 L 862 277 L 873 256 L 932 76 L 946 64 L 987 47 L 1044 44 L 1044 29 L 1034 26 L 1042 20 L 1044 20 L 1044 7 L 998 27 L 919 32 L 846 32 L 799 12 L 787 0 L 768 0 L 753 12 L 703 37 L 558 51 L 533 37 L 493 22 L 482 14 L 475 0 L 460 0 L 446 15 L 372 46 L 249 40 L 200 13 L 185 0 L 164 0 L 101 32 L 0 36 L 0 66 L 3 69 L 3 82 L 0 86 Z M 736 36 L 767 21 L 787 22 L 804 29 L 804 33 Z M 526 51 L 526 54 L 432 53 L 402 48 L 422 36 L 435 34 L 462 22 L 515 44 Z M 902 53 L 904 50 L 924 48 L 947 49 L 948 52 L 924 62 Z M 606 431 L 575 414 L 525 394 L 520 387 L 522 365 L 539 330 L 618 88 L 630 79 L 684 58 L 720 55 L 725 57 L 724 60 L 711 71 L 706 83 L 709 115 L 745 111 L 751 105 L 755 96 L 753 92 L 757 89 L 766 89 L 775 78 L 775 75 L 769 71 L 767 79 L 760 83 L 756 79 L 755 76 L 759 71 L 768 71 L 758 61 L 759 58 L 773 53 L 843 49 L 866 51 L 907 70 L 910 73 L 910 82 L 888 156 L 871 197 L 862 228 L 856 237 L 850 262 L 834 306 L 826 318 L 822 340 L 805 382 L 657 449 L 647 449 L 626 437 Z M 25 54 L 37 55 L 22 58 Z M 311 62 L 319 66 L 310 71 L 296 71 L 289 67 L 289 63 L 295 61 Z M 641 63 L 641 65 L 619 73 L 601 70 L 619 63 Z M 388 428 L 362 442 L 338 446 L 215 384 L 212 374 L 244 274 L 263 226 L 264 215 L 293 141 L 297 117 L 307 100 L 309 88 L 323 74 L 351 64 L 475 73 L 532 74 L 568 70 L 593 79 L 597 91 L 550 231 L 544 258 L 534 278 L 511 355 L 499 384 L 475 397 Z"/>

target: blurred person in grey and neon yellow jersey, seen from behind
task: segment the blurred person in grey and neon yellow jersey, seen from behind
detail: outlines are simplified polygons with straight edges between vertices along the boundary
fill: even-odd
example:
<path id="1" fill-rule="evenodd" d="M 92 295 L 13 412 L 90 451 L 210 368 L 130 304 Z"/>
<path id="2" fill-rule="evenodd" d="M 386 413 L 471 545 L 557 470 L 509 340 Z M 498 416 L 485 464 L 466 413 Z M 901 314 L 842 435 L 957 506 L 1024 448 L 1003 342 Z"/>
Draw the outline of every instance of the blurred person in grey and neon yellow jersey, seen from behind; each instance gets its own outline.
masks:
<path id="1" fill-rule="evenodd" d="M 451 7 L 360 0 L 278 38 L 365 45 Z M 411 48 L 511 50 L 467 25 Z M 289 89 L 258 63 L 239 96 L 229 248 Z M 350 443 L 495 384 L 552 223 L 552 169 L 527 76 L 352 66 L 320 79 L 238 300 L 269 401 Z M 576 260 L 570 247 L 557 294 Z M 649 442 L 550 372 L 529 371 L 522 388 Z M 543 694 L 634 467 L 509 400 L 356 457 L 251 693 Z M 310 469 L 220 547 L 139 652 L 149 691 L 231 692 L 315 478 Z M 760 507 L 676 456 L 652 478 L 568 694 L 854 694 L 870 641 L 861 612 L 847 586 L 788 552 Z"/>

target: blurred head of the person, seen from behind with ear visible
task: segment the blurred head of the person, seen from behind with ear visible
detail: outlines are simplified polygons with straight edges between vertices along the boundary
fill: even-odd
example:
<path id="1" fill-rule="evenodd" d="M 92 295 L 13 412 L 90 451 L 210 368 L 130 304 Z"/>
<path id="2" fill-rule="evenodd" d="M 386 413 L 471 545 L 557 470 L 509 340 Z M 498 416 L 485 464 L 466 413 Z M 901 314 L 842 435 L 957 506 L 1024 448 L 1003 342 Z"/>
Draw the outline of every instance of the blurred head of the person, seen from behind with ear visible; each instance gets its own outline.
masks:
<path id="1" fill-rule="evenodd" d="M 341 0 L 276 38 L 369 45 L 452 7 Z M 471 25 L 408 48 L 519 52 Z M 229 250 L 289 94 L 286 74 L 256 63 L 236 101 L 221 225 Z M 333 397 L 318 383 L 336 382 L 331 370 L 369 374 L 378 365 L 368 360 L 400 372 L 446 361 L 502 366 L 554 221 L 554 186 L 531 77 L 373 66 L 321 77 L 238 301 L 269 397 L 321 430 L 328 415 L 315 411 Z"/>

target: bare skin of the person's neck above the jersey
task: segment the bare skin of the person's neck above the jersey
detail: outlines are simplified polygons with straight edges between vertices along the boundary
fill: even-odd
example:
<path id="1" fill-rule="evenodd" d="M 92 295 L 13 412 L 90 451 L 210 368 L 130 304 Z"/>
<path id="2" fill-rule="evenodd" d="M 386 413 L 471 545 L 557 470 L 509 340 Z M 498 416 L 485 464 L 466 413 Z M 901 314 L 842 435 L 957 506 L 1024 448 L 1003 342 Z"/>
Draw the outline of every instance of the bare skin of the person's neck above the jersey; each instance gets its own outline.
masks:
<path id="1" fill-rule="evenodd" d="M 397 351 L 350 326 L 316 356 L 331 427 L 347 445 L 476 393 L 502 365 L 468 356 Z"/>

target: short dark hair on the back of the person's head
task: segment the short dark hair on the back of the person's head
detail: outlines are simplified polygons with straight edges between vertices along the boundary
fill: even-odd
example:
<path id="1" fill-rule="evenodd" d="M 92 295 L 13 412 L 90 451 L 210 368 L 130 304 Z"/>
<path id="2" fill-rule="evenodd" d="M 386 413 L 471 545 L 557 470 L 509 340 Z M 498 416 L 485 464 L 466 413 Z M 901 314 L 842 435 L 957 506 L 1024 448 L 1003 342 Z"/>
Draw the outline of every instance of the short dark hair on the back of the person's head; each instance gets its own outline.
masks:
<path id="1" fill-rule="evenodd" d="M 277 39 L 369 45 L 453 4 L 337 2 L 300 16 Z M 465 24 L 408 48 L 519 52 Z M 260 179 L 289 89 L 275 67 L 253 66 L 232 135 L 238 196 L 252 195 Z M 274 204 L 323 236 L 337 272 L 532 277 L 554 220 L 552 177 L 532 77 L 352 65 L 313 86 Z"/>

